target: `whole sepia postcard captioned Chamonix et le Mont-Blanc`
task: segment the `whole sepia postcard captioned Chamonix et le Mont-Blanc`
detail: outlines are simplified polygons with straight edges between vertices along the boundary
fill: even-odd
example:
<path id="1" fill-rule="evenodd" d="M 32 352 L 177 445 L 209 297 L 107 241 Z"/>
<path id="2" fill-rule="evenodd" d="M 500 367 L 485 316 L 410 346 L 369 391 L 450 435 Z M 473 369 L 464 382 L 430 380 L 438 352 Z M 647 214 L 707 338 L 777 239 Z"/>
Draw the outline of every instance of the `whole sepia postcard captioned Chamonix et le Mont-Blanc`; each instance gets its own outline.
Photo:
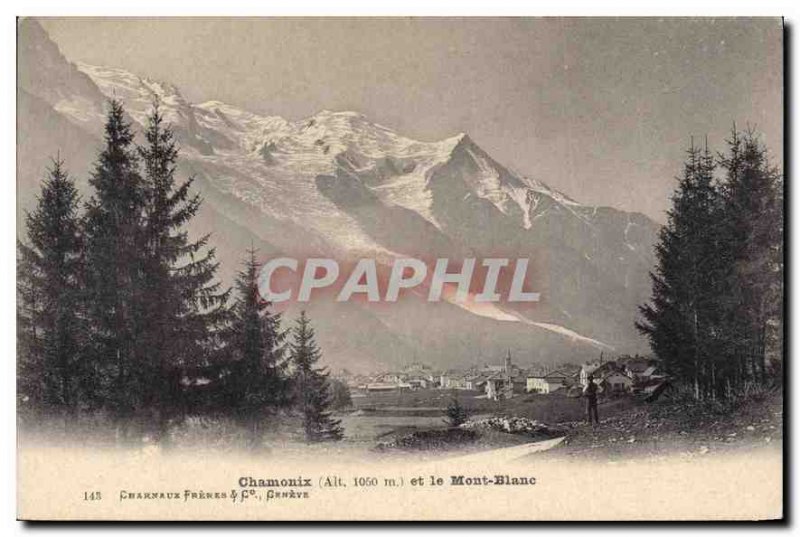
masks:
<path id="1" fill-rule="evenodd" d="M 783 36 L 20 17 L 18 517 L 782 519 Z"/>

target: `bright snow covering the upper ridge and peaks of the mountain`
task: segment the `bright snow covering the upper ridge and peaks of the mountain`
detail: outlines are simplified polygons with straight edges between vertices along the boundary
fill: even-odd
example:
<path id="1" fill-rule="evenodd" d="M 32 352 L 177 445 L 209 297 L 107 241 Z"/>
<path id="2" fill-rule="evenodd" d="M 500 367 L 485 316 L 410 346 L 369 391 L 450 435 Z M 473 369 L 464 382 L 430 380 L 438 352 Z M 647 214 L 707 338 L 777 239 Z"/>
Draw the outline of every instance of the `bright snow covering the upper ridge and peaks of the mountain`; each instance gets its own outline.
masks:
<path id="1" fill-rule="evenodd" d="M 487 199 L 504 214 L 513 205 L 519 207 L 522 229 L 530 229 L 534 220 L 554 208 L 563 208 L 592 225 L 579 210 L 584 206 L 538 180 L 513 171 L 506 176 L 464 133 L 438 142 L 420 142 L 371 123 L 354 111 L 322 110 L 288 121 L 217 100 L 192 104 L 177 87 L 122 69 L 77 66 L 105 95 L 121 99 L 140 125 L 146 123 L 153 98 L 158 96 L 166 120 L 183 137 L 179 142 L 184 158 L 221 191 L 266 215 L 310 227 L 348 252 L 386 253 L 353 217 L 316 187 L 317 176 L 335 176 L 342 171 L 340 158 L 383 203 L 413 211 L 439 229 L 428 180 L 433 170 L 453 158 L 458 147 L 464 148 L 478 170 L 467 195 Z M 58 106 L 78 121 L 94 120 L 101 125 L 101 118 L 82 112 L 85 107 L 81 103 L 65 100 Z M 532 217 L 545 197 L 553 203 Z"/>

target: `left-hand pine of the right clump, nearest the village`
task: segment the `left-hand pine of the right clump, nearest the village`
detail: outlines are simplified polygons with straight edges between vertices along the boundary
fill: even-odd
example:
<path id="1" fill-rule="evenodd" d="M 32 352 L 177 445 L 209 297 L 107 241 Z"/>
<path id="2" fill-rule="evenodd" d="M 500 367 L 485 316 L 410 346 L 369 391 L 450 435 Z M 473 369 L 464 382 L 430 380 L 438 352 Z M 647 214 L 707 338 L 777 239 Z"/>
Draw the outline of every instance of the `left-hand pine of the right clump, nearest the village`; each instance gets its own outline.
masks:
<path id="1" fill-rule="evenodd" d="M 698 398 L 718 390 L 716 327 L 724 260 L 714 168 L 708 147 L 701 151 L 692 144 L 656 245 L 651 302 L 640 308 L 643 320 L 636 325 L 667 371 L 690 382 Z"/>

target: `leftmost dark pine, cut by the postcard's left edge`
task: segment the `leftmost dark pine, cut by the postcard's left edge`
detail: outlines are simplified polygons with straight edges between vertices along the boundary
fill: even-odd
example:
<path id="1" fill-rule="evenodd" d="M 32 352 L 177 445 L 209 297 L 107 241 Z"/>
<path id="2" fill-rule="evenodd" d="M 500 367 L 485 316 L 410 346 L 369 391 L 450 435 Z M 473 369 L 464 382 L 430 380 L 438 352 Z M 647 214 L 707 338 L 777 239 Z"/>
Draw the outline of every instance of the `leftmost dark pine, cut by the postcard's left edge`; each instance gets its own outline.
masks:
<path id="1" fill-rule="evenodd" d="M 82 234 L 75 184 L 56 159 L 18 243 L 19 387 L 45 410 L 76 412 L 85 356 Z"/>

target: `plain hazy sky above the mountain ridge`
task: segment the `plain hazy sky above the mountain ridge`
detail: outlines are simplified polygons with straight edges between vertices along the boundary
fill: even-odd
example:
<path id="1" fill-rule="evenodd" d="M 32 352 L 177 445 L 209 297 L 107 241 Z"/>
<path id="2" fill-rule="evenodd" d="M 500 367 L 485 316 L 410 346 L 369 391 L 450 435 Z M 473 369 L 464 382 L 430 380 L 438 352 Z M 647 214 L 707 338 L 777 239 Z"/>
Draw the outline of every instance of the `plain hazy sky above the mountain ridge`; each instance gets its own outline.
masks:
<path id="1" fill-rule="evenodd" d="M 780 19 L 40 19 L 71 61 L 301 119 L 460 132 L 582 203 L 665 219 L 692 136 L 734 122 L 782 165 Z"/>

